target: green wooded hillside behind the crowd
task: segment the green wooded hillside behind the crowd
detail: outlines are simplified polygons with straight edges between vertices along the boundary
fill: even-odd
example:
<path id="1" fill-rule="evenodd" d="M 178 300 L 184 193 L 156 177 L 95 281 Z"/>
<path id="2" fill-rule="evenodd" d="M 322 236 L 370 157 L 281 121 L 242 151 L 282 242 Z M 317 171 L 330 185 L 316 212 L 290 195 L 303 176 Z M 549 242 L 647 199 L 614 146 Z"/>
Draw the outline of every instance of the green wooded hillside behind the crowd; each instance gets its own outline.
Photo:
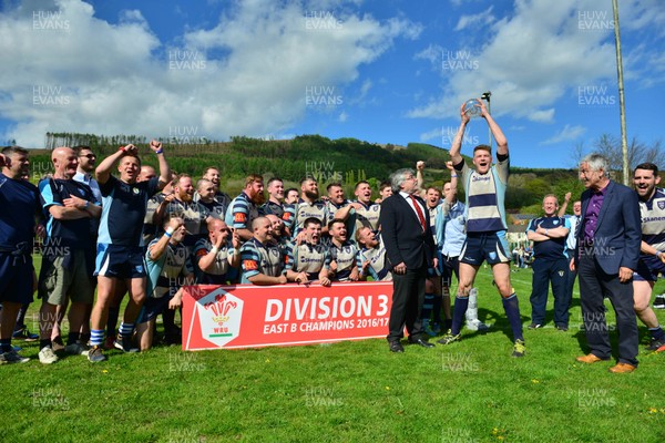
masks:
<path id="1" fill-rule="evenodd" d="M 89 144 L 103 157 L 127 140 L 140 146 L 141 152 L 149 153 L 145 137 L 134 136 L 104 138 L 81 135 L 55 138 L 47 143 L 47 146 Z M 200 177 L 206 166 L 216 166 L 223 177 L 223 188 L 232 195 L 241 190 L 243 177 L 253 173 L 263 174 L 266 178 L 277 175 L 285 181 L 287 187 L 297 187 L 303 177 L 314 176 L 319 181 L 323 193 L 328 183 L 341 182 L 350 196 L 354 184 L 359 179 L 367 179 L 378 193 L 379 183 L 388 178 L 391 172 L 401 167 L 415 167 L 416 162 L 421 159 L 427 165 L 426 185 L 441 187 L 450 178 L 444 165 L 450 159 L 448 151 L 422 143 L 380 146 L 356 138 L 330 140 L 320 135 L 268 141 L 237 136 L 224 143 L 163 142 L 174 171 Z M 153 156 L 144 155 L 143 161 L 156 166 Z M 34 179 L 51 168 L 47 150 L 35 150 L 31 162 Z M 582 190 L 575 171 L 511 168 L 507 207 L 513 212 L 535 205 L 531 210 L 538 213 L 544 195 L 553 193 L 561 198 L 567 190 L 573 192 L 573 195 L 579 195 Z"/>

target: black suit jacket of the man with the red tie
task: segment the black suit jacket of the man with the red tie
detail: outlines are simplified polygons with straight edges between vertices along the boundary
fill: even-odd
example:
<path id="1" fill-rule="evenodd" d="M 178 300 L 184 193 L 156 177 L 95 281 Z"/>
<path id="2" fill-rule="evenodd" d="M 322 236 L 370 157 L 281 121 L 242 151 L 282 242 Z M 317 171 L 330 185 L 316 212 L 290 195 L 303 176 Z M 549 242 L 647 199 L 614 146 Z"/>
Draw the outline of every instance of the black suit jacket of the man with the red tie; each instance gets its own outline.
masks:
<path id="1" fill-rule="evenodd" d="M 405 262 L 407 269 L 432 266 L 436 254 L 434 240 L 429 223 L 429 210 L 422 198 L 416 196 L 426 220 L 422 230 L 420 220 L 411 205 L 399 193 L 381 203 L 381 238 L 386 246 L 386 258 L 391 267 Z"/>

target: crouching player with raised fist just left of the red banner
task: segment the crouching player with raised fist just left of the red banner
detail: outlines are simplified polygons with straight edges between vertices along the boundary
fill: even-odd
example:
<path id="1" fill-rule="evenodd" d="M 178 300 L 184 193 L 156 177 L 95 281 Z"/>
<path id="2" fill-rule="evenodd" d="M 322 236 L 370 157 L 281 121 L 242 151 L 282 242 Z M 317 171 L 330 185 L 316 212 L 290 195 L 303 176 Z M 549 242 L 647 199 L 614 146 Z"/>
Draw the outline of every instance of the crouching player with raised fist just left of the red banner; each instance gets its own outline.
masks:
<path id="1" fill-rule="evenodd" d="M 182 287 L 194 285 L 194 268 L 183 240 L 184 220 L 172 217 L 164 223 L 164 235 L 147 246 L 147 298 L 139 315 L 136 336 L 142 351 L 152 348 L 155 319 L 164 309 L 182 305 Z M 168 337 L 173 331 L 164 331 Z"/>

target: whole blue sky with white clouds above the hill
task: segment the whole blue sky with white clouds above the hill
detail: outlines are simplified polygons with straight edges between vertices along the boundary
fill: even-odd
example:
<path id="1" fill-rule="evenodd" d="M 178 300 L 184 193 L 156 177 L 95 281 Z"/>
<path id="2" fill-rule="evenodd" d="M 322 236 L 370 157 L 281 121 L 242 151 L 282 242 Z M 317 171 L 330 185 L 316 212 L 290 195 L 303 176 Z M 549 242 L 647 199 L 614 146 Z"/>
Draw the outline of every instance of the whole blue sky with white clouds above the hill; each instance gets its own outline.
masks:
<path id="1" fill-rule="evenodd" d="M 621 0 L 627 137 L 662 138 L 665 10 Z M 320 134 L 450 148 L 491 92 L 511 164 L 621 136 L 611 0 L 0 0 L 0 143 Z M 473 119 L 462 153 L 488 143 Z M 663 165 L 662 165 L 663 166 Z"/>

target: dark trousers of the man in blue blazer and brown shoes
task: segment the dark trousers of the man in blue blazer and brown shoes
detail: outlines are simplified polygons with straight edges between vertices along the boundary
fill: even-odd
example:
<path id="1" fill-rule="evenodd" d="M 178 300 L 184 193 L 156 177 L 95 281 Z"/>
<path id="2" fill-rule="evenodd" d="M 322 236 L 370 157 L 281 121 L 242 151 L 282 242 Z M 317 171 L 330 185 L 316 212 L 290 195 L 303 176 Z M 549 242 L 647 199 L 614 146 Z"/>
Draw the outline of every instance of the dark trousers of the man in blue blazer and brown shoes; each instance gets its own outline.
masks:
<path id="1" fill-rule="evenodd" d="M 633 309 L 633 282 L 622 284 L 618 275 L 607 275 L 593 255 L 582 255 L 579 262 L 580 302 L 586 341 L 591 353 L 601 359 L 612 357 L 603 296 L 612 302 L 618 329 L 618 361 L 637 365 L 637 318 Z"/>

